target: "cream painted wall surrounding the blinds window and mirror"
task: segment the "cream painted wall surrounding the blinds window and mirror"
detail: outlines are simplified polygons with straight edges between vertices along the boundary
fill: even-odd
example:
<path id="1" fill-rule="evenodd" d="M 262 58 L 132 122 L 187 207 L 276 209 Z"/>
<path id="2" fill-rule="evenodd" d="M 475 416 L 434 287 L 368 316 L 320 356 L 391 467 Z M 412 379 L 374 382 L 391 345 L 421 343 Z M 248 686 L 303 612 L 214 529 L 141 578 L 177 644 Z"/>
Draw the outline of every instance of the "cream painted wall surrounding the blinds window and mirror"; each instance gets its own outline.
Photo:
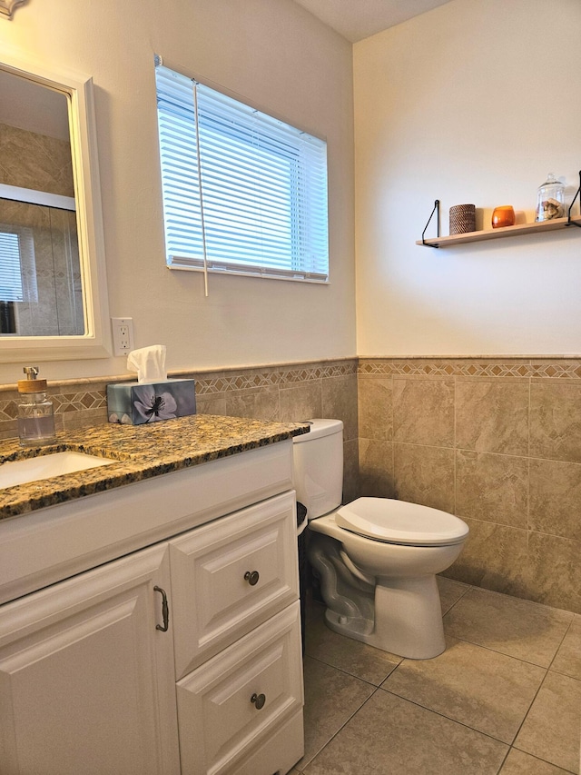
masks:
<path id="1" fill-rule="evenodd" d="M 52 0 L 2 20 L 2 46 L 94 79 L 110 312 L 168 369 L 355 355 L 351 46 L 291 0 Z M 165 267 L 153 55 L 327 139 L 329 286 Z M 49 380 L 125 372 L 124 358 L 40 363 Z M 20 366 L 0 368 L 15 383 Z"/>

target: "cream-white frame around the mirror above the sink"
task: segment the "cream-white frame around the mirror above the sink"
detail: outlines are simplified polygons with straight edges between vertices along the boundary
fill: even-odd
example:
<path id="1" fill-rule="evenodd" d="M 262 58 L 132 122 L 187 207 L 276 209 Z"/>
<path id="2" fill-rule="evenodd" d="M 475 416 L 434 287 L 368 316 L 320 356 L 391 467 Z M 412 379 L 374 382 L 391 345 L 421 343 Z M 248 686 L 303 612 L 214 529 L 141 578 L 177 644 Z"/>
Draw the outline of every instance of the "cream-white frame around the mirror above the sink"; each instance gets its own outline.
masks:
<path id="1" fill-rule="evenodd" d="M 0 69 L 66 94 L 69 98 L 69 134 L 85 326 L 85 333 L 78 336 L 0 337 L 0 363 L 111 357 L 93 79 L 55 71 L 4 48 L 0 48 Z"/>

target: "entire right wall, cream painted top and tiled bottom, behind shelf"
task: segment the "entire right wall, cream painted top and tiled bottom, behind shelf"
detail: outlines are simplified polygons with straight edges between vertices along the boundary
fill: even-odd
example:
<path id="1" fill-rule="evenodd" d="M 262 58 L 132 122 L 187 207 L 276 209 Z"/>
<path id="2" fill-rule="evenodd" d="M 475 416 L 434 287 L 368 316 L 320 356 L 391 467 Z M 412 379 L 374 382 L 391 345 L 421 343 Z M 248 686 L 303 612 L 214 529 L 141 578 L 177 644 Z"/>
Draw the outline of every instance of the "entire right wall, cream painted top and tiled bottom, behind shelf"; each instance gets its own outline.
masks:
<path id="1" fill-rule="evenodd" d="M 581 230 L 415 242 L 437 198 L 448 233 L 452 204 L 534 220 L 548 172 L 575 193 L 580 29 L 576 0 L 451 0 L 354 46 L 360 492 L 465 519 L 452 577 L 577 612 Z"/>

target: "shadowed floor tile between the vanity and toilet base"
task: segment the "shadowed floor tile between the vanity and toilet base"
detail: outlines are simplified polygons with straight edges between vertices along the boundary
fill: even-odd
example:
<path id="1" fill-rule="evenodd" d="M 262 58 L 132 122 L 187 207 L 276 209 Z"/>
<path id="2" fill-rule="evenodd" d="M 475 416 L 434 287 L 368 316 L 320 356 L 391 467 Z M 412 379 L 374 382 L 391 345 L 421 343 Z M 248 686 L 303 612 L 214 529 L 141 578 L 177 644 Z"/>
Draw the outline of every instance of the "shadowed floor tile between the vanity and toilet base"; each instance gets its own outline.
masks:
<path id="1" fill-rule="evenodd" d="M 306 637 L 308 656 L 379 686 L 399 665 L 401 657 L 333 632 L 323 621 L 324 611 L 322 605 L 310 606 Z"/>

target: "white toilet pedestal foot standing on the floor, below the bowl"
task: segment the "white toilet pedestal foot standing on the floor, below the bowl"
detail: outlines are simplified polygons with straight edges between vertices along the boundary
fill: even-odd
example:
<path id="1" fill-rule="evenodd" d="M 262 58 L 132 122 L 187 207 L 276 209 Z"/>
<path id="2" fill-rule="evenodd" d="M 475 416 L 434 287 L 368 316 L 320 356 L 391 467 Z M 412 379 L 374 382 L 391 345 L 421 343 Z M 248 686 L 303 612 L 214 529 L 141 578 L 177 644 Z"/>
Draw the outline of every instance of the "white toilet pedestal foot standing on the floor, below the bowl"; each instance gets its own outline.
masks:
<path id="1" fill-rule="evenodd" d="M 381 581 L 375 587 L 374 620 L 328 608 L 330 630 L 409 660 L 430 660 L 445 651 L 436 576 Z"/>

